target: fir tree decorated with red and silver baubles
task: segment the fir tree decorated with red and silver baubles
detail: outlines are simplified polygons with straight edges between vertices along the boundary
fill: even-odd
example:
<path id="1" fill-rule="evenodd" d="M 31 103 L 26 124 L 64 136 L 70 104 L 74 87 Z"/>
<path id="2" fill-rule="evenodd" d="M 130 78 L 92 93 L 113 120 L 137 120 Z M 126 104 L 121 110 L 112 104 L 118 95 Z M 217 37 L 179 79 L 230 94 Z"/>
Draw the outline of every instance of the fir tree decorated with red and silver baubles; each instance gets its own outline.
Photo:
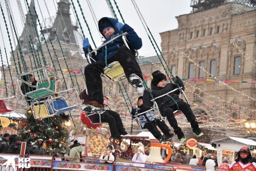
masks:
<path id="1" fill-rule="evenodd" d="M 28 110 L 26 122 L 23 123 L 19 135 L 22 141 L 27 142 L 28 146 L 36 142 L 38 137 L 42 138 L 47 144 L 46 155 L 59 156 L 63 152 L 63 147 L 66 147 L 66 137 L 69 134 L 63 125 L 64 121 L 57 115 L 45 119 L 35 119 L 31 110 Z"/>

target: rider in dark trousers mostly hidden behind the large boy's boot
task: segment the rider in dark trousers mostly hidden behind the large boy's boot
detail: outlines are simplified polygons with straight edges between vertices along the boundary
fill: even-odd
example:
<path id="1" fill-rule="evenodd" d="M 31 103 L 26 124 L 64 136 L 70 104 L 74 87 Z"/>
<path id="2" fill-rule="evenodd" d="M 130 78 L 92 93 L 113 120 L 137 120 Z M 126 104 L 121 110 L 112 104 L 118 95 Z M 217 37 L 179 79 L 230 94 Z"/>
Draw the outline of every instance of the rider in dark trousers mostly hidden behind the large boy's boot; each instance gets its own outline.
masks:
<path id="1" fill-rule="evenodd" d="M 89 102 L 89 95 L 87 94 L 87 89 L 82 91 L 79 94 L 79 97 L 81 100 L 84 102 Z M 100 115 L 98 113 L 95 113 L 91 116 L 88 116 L 88 118 L 93 122 L 93 123 L 108 123 L 109 124 L 109 129 L 111 136 L 114 139 L 121 140 L 122 136 L 121 135 L 127 135 L 128 132 L 125 130 L 124 125 L 122 123 L 122 120 L 120 118 L 120 115 L 112 110 L 106 110 L 104 113 L 101 113 Z"/>

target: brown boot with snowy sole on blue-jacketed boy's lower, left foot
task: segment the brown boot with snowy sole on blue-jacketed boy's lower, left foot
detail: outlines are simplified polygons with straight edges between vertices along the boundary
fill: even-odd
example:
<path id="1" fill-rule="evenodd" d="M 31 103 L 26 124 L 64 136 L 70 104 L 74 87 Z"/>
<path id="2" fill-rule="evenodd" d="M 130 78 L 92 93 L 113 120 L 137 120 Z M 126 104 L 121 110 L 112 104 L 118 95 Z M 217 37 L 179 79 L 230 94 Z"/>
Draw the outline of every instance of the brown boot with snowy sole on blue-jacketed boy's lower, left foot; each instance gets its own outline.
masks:
<path id="1" fill-rule="evenodd" d="M 86 113 L 95 112 L 95 113 L 98 113 L 98 114 L 102 114 L 102 113 L 106 112 L 105 109 L 104 109 L 104 105 L 101 104 L 100 102 L 96 101 L 96 100 L 92 100 L 89 103 L 83 103 L 80 106 L 80 109 L 83 110 Z"/>

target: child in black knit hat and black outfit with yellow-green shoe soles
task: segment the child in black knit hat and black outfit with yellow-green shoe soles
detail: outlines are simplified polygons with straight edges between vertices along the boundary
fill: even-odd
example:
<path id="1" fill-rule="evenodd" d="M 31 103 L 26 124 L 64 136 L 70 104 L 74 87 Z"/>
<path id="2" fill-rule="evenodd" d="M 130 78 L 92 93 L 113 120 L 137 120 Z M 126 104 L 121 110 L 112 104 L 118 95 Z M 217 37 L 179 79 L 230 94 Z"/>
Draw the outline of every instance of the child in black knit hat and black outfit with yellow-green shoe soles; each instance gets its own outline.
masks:
<path id="1" fill-rule="evenodd" d="M 159 97 L 167 92 L 176 89 L 177 86 L 175 83 L 179 84 L 179 86 L 181 86 L 184 91 L 184 84 L 182 80 L 177 76 L 172 78 L 174 83 L 166 83 L 166 76 L 160 71 L 153 72 L 152 76 L 152 90 L 148 88 L 146 91 L 144 91 L 143 94 L 144 106 L 146 108 L 150 108 L 153 105 L 153 102 L 150 101 L 150 92 L 152 92 L 153 97 Z M 196 121 L 195 115 L 193 114 L 193 111 L 190 109 L 189 104 L 179 98 L 179 93 L 180 91 L 177 90 L 173 93 L 156 99 L 155 102 L 158 105 L 159 112 L 161 112 L 162 115 L 166 116 L 171 127 L 174 129 L 174 133 L 177 134 L 179 141 L 183 142 L 186 140 L 186 137 L 182 132 L 181 128 L 178 126 L 177 120 L 175 119 L 173 114 L 173 112 L 178 108 L 183 112 L 187 120 L 190 122 L 193 133 L 196 136 L 202 136 L 203 132 L 199 128 L 198 122 Z"/>

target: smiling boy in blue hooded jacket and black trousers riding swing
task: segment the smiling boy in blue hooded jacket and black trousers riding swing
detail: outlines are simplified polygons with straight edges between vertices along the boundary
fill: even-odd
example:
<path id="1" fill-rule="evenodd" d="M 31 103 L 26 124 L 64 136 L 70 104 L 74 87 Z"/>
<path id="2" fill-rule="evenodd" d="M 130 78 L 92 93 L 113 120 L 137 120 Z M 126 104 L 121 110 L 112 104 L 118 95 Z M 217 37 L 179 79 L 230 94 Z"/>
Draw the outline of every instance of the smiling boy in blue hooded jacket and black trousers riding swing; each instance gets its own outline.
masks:
<path id="1" fill-rule="evenodd" d="M 100 48 L 97 51 L 97 55 L 92 53 L 92 58 L 95 62 L 88 64 L 84 69 L 86 87 L 90 98 L 89 103 L 82 104 L 80 107 L 85 112 L 91 112 L 91 110 L 98 113 L 104 112 L 100 109 L 103 108 L 102 80 L 100 75 L 104 67 L 106 67 L 106 62 L 109 64 L 118 61 L 124 68 L 129 83 L 136 88 L 137 92 L 144 91 L 143 75 L 135 59 L 135 50 L 140 49 L 142 46 L 141 38 L 138 37 L 136 32 L 128 24 L 122 24 L 116 19 L 108 17 L 103 17 L 99 20 L 99 30 L 102 36 L 106 38 L 103 43 L 115 38 L 122 32 L 127 32 L 126 39 L 128 40 L 130 49 L 125 46 L 122 37 L 118 37 L 111 43 Z M 85 55 L 88 53 L 88 48 L 92 50 L 87 38 L 83 41 L 83 47 Z"/>

